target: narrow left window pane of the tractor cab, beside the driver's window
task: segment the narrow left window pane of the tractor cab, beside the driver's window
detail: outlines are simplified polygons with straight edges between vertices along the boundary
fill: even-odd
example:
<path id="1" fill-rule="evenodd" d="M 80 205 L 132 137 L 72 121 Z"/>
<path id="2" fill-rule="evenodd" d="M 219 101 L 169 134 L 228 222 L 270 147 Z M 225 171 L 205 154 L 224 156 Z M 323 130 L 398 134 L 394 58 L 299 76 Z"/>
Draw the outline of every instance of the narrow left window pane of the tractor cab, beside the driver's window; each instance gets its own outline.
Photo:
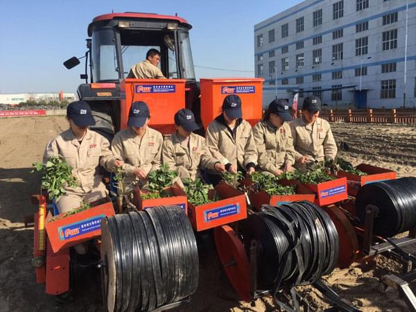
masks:
<path id="1" fill-rule="evenodd" d="M 119 79 L 114 37 L 112 29 L 94 31 L 92 34 L 92 72 L 96 82 Z"/>

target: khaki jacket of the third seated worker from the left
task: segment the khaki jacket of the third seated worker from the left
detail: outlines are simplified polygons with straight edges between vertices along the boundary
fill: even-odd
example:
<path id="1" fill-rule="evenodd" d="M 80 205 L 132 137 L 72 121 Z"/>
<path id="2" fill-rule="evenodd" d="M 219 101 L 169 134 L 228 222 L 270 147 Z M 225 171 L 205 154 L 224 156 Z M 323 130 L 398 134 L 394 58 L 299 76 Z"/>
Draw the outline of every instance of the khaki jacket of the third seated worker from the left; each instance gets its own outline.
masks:
<path id="1" fill-rule="evenodd" d="M 205 138 L 191 133 L 184 139 L 175 132 L 163 142 L 162 161 L 170 170 L 176 170 L 181 179 L 195 180 L 201 177 L 200 169 L 214 171 L 217 159 L 211 156 Z"/>

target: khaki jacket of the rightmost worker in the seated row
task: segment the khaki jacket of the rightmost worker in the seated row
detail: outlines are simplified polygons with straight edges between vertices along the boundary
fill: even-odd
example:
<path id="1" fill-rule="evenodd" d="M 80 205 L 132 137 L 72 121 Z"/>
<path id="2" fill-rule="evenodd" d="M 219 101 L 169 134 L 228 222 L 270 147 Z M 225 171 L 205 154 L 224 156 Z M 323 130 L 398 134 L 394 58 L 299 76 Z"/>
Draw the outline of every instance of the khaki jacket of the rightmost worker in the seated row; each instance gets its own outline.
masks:
<path id="1" fill-rule="evenodd" d="M 302 156 L 309 156 L 318 162 L 336 157 L 338 148 L 328 121 L 318 118 L 315 123 L 308 125 L 301 117 L 291 122 L 291 130 L 296 162 Z"/>

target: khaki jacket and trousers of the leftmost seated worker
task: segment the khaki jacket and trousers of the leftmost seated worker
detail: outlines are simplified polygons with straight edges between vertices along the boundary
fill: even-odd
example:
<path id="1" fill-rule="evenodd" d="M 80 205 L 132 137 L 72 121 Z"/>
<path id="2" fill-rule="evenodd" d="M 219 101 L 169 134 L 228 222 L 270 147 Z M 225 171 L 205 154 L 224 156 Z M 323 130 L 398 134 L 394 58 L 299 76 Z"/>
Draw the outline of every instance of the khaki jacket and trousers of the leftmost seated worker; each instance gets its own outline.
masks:
<path id="1" fill-rule="evenodd" d="M 52 139 L 46 146 L 44 164 L 52 156 L 64 159 L 68 166 L 72 167 L 72 174 L 77 178 L 77 186 L 64 187 L 67 193 L 56 200 L 60 213 L 80 207 L 82 201 L 93 202 L 107 196 L 99 166 L 109 170 L 110 162 L 115 157 L 105 137 L 88 129 L 80 143 L 69 129 Z"/>

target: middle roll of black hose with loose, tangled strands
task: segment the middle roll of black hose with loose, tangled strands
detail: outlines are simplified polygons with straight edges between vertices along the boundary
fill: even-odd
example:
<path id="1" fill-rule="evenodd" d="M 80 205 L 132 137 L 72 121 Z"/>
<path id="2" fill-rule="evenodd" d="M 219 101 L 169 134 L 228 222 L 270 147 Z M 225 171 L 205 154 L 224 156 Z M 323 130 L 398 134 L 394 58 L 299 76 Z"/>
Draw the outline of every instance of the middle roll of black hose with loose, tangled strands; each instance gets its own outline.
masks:
<path id="1" fill-rule="evenodd" d="M 259 290 L 312 284 L 338 261 L 339 240 L 328 214 L 311 202 L 263 205 L 243 223 L 245 245 L 257 240 Z M 250 253 L 250 251 L 248 250 Z"/>

